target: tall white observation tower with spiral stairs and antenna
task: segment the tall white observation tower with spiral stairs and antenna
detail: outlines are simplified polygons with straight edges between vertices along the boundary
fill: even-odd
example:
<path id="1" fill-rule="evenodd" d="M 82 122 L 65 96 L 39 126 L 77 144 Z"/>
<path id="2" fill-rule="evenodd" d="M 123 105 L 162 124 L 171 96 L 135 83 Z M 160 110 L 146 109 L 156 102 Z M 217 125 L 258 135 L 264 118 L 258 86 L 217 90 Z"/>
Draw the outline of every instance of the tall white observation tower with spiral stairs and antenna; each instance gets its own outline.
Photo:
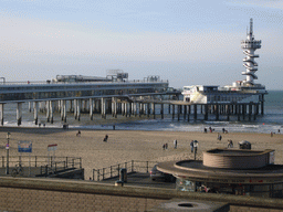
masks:
<path id="1" fill-rule="evenodd" d="M 247 78 L 243 81 L 245 85 L 254 85 L 254 80 L 258 80 L 255 72 L 258 71 L 258 63 L 254 62 L 254 57 L 259 57 L 259 54 L 254 54 L 255 50 L 261 49 L 261 41 L 254 40 L 253 30 L 252 30 L 252 19 L 250 19 L 250 32 L 247 30 L 247 39 L 241 42 L 241 47 L 247 57 L 243 59 L 243 66 L 245 72 L 242 72 L 242 75 L 245 75 Z"/>

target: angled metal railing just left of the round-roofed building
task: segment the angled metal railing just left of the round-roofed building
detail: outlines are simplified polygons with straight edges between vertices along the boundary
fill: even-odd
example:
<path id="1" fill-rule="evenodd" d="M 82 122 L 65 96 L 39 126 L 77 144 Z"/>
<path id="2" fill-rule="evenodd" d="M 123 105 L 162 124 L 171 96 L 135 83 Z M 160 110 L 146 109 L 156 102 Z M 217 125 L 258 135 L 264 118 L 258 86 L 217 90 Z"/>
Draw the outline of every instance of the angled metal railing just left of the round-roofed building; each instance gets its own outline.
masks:
<path id="1" fill-rule="evenodd" d="M 156 165 L 156 161 L 137 161 L 132 160 L 129 162 L 118 163 L 102 169 L 93 169 L 93 180 L 101 181 L 105 179 L 119 177 L 119 170 L 126 169 L 127 173 L 144 172 L 148 173 L 151 168 Z"/>

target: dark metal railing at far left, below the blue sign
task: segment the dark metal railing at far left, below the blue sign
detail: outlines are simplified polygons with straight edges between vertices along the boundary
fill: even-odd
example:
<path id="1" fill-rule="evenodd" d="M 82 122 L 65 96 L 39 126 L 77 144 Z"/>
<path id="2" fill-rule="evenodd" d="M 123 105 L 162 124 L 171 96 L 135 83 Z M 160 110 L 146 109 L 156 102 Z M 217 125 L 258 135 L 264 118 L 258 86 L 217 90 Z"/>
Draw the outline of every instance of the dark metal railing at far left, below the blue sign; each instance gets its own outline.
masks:
<path id="1" fill-rule="evenodd" d="M 21 163 L 23 167 L 45 167 L 56 168 L 63 165 L 65 168 L 82 168 L 82 158 L 75 157 L 54 157 L 54 156 L 10 156 L 9 167 Z M 0 157 L 0 166 L 7 165 L 7 158 Z M 62 167 L 62 166 L 61 166 Z"/>

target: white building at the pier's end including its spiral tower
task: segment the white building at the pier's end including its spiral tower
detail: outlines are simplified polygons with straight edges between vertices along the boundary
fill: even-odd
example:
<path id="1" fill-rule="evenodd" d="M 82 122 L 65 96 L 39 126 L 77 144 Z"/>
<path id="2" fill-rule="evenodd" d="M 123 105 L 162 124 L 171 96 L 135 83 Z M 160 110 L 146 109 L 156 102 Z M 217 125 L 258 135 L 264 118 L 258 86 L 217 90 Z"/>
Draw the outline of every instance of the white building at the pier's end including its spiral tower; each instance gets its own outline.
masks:
<path id="1" fill-rule="evenodd" d="M 258 63 L 254 59 L 259 57 L 254 52 L 261 49 L 261 41 L 254 39 L 252 19 L 250 20 L 250 31 L 247 33 L 247 39 L 241 42 L 241 47 L 245 55 L 243 59 L 245 72 L 242 72 L 242 75 L 245 75 L 245 80 L 237 81 L 232 83 L 232 85 L 223 87 L 218 85 L 184 86 L 184 102 L 205 104 L 209 107 L 212 106 L 217 114 L 220 113 L 218 112 L 220 108 L 222 110 L 221 113 L 227 115 L 231 114 L 233 107 L 235 108 L 235 114 L 239 114 L 240 110 L 243 110 L 243 113 L 249 110 L 249 114 L 253 113 L 258 115 L 259 107 L 261 107 L 261 114 L 263 115 L 264 95 L 268 94 L 268 92 L 264 85 L 254 82 L 254 80 L 258 80 L 255 75 Z M 247 108 L 248 105 L 249 108 Z M 254 109 L 252 107 L 254 107 Z"/>

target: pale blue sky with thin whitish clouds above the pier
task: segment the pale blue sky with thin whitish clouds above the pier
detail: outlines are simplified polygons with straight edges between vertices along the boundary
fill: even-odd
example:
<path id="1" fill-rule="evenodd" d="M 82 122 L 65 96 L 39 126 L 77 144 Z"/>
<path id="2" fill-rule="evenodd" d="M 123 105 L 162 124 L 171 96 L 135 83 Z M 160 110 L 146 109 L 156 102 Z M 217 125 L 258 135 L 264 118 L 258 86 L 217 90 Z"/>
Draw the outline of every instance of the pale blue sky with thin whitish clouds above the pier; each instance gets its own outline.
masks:
<path id="1" fill-rule="evenodd" d="M 252 18 L 262 41 L 255 83 L 283 89 L 282 12 L 280 0 L 0 0 L 0 77 L 122 70 L 175 88 L 229 85 L 245 78 L 240 44 Z"/>

